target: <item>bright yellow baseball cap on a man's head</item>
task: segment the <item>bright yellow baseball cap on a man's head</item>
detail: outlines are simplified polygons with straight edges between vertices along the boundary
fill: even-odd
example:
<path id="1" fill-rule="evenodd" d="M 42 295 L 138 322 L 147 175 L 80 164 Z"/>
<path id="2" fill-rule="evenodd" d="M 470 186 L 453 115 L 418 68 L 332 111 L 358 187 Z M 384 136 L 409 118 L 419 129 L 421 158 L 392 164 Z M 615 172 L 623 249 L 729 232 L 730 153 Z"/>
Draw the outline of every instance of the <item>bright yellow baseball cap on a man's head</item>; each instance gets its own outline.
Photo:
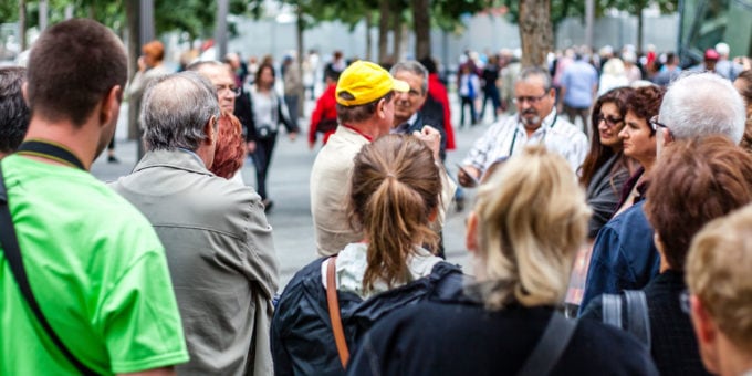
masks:
<path id="1" fill-rule="evenodd" d="M 369 61 L 358 60 L 340 75 L 336 98 L 343 106 L 357 106 L 374 102 L 391 91 L 407 93 L 410 85 L 401 80 L 395 80 L 389 72 Z M 349 93 L 353 100 L 345 100 L 340 93 Z"/>

